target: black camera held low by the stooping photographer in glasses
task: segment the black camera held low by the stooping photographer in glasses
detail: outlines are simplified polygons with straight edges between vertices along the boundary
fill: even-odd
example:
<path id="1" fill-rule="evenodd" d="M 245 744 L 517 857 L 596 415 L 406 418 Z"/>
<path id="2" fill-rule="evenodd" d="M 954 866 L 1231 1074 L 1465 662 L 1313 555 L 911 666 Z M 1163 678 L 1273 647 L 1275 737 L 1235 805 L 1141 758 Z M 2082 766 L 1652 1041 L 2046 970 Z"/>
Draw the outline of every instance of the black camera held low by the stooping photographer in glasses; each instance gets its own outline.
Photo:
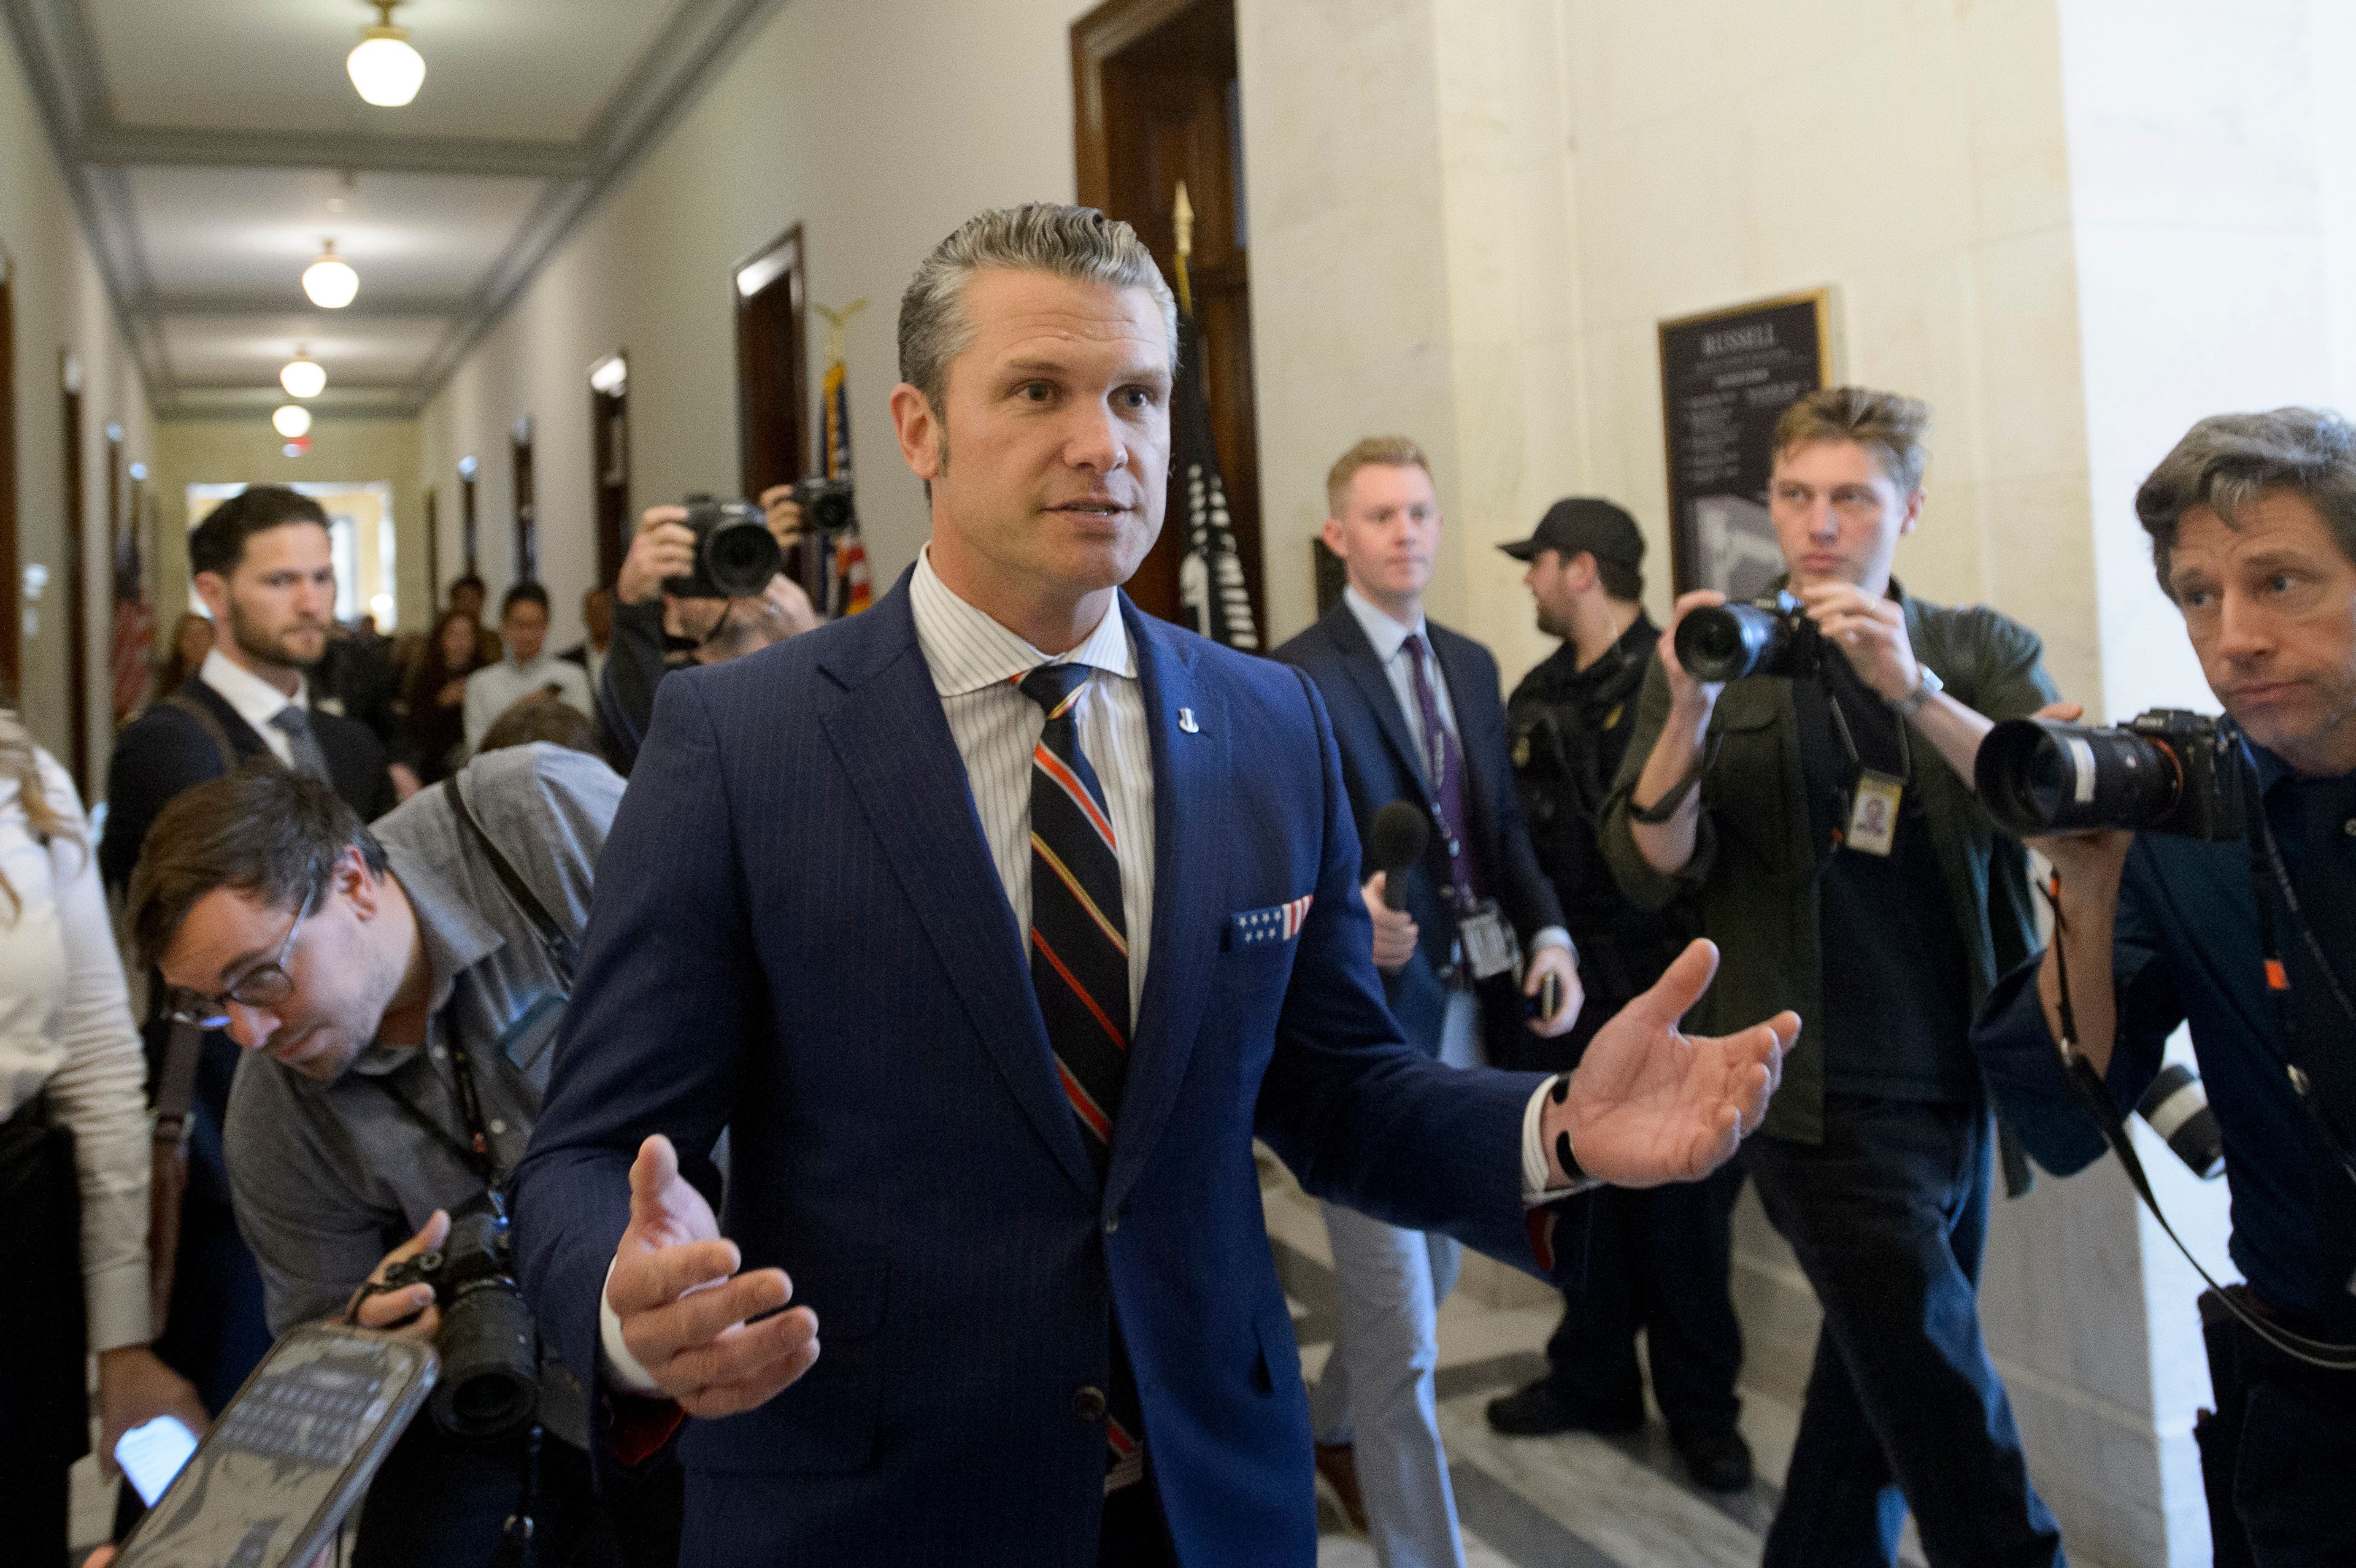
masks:
<path id="1" fill-rule="evenodd" d="M 441 1382 L 434 1420 L 455 1436 L 514 1431 L 540 1408 L 540 1333 L 514 1276 L 507 1205 L 495 1194 L 450 1215 L 438 1248 L 396 1262 L 384 1290 L 434 1285 Z"/>

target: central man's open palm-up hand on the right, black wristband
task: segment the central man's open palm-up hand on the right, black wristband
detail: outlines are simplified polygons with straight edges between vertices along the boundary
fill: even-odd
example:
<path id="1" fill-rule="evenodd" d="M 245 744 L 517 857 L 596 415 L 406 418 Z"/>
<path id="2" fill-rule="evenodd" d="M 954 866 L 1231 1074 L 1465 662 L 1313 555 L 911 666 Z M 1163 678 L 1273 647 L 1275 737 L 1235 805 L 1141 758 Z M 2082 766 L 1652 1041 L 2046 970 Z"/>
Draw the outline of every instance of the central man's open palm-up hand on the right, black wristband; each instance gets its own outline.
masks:
<path id="1" fill-rule="evenodd" d="M 1586 1172 L 1614 1187 L 1696 1182 L 1734 1158 L 1783 1081 L 1800 1015 L 1722 1038 L 1680 1031 L 1715 975 L 1718 946 L 1694 942 L 1595 1034 L 1564 1102 L 1546 1107 L 1548 1161 L 1555 1132 L 1569 1132 Z"/>

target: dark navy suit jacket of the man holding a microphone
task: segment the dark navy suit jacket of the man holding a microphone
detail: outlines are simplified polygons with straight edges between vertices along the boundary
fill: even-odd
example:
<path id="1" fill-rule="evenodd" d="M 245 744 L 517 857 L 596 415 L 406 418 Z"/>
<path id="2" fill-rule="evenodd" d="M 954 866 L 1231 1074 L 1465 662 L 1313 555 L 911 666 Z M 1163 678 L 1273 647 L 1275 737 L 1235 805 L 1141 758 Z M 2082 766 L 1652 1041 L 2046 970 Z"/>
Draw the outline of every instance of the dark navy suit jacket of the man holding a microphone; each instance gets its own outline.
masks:
<path id="1" fill-rule="evenodd" d="M 1425 622 L 1423 629 L 1430 633 L 1432 659 L 1449 683 L 1449 704 L 1456 709 L 1472 859 L 1489 897 L 1529 946 L 1529 939 L 1548 925 L 1562 925 L 1562 899 L 1546 881 L 1538 855 L 1529 848 L 1529 829 L 1522 824 L 1522 800 L 1513 786 L 1513 760 L 1505 749 L 1505 704 L 1496 695 L 1496 659 L 1447 626 Z M 1383 673 L 1383 662 L 1376 659 L 1374 643 L 1350 614 L 1350 605 L 1336 603 L 1324 619 L 1279 647 L 1277 657 L 1298 664 L 1324 697 L 1333 739 L 1341 744 L 1341 777 L 1357 831 L 1364 833 L 1374 815 L 1392 800 L 1411 800 L 1430 815 L 1432 796 L 1423 782 L 1414 730 L 1407 727 L 1390 676 Z M 1374 871 L 1369 864 L 1362 876 Z M 1399 972 L 1383 977 L 1399 1029 L 1432 1052 L 1440 1050 L 1440 1026 L 1449 1005 L 1440 965 L 1449 963 L 1449 946 L 1456 942 L 1456 921 L 1440 897 L 1447 885 L 1449 852 L 1432 831 L 1423 859 L 1407 873 L 1404 909 L 1421 932 L 1416 956 Z M 1520 1024 L 1513 1029 L 1520 1031 Z"/>

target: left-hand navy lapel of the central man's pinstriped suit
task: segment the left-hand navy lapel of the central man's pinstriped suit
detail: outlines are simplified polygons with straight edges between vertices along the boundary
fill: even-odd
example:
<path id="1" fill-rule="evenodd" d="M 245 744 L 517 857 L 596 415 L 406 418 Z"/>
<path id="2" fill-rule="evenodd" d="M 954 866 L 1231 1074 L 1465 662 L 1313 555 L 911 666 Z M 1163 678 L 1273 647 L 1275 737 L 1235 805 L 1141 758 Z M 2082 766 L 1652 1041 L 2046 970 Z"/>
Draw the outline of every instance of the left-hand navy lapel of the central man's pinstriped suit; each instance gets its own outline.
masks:
<path id="1" fill-rule="evenodd" d="M 820 659 L 843 687 L 843 702 L 825 716 L 834 756 L 1008 1092 L 1093 1196 L 1096 1168 L 1055 1081 L 1023 937 L 990 862 L 933 673 L 916 650 L 907 577 L 839 626 L 829 629 L 834 647 Z"/>

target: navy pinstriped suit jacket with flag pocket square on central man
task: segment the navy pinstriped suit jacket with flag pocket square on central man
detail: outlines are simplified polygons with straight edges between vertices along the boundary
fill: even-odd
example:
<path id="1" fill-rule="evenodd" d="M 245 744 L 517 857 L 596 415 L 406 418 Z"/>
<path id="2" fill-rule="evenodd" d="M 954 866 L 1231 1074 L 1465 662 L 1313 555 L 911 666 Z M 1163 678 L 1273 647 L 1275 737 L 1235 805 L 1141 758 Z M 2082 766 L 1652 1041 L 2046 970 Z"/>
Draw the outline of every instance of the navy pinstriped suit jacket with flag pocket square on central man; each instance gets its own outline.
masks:
<path id="1" fill-rule="evenodd" d="M 916 647 L 867 614 L 662 683 L 598 864 L 532 1151 L 521 1274 L 568 1366 L 627 1222 L 627 1165 L 730 1132 L 723 1229 L 820 1318 L 818 1366 L 688 1422 L 683 1561 L 1096 1563 L 1112 1309 L 1192 1563 L 1312 1563 L 1310 1427 L 1253 1132 L 1303 1184 L 1536 1267 L 1529 1074 L 1399 1043 L 1357 902 L 1331 730 L 1291 669 L 1143 617 L 1152 963 L 1100 1187 L 1023 935 Z M 1192 732 L 1178 711 L 1192 709 Z M 1230 918 L 1301 895 L 1291 942 Z M 1543 1227 L 1541 1227 L 1543 1229 Z M 787 1476 L 712 1523 L 728 1471 Z"/>

